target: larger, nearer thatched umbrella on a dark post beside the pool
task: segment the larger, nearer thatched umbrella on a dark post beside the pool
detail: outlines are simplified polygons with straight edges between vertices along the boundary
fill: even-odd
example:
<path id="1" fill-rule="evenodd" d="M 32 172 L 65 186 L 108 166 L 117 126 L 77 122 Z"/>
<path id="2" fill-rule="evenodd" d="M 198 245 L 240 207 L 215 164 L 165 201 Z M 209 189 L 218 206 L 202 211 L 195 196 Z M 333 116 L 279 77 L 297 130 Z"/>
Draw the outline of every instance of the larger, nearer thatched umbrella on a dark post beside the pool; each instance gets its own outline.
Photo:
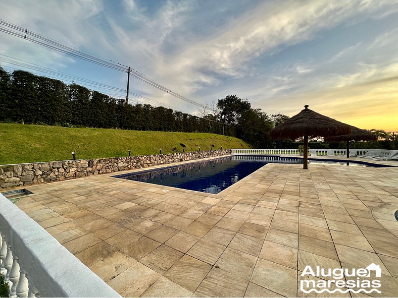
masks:
<path id="1" fill-rule="evenodd" d="M 308 136 L 328 137 L 351 133 L 349 125 L 314 112 L 304 106 L 305 109 L 292 116 L 271 131 L 271 138 L 297 139 L 304 136 L 304 168 L 308 168 Z"/>

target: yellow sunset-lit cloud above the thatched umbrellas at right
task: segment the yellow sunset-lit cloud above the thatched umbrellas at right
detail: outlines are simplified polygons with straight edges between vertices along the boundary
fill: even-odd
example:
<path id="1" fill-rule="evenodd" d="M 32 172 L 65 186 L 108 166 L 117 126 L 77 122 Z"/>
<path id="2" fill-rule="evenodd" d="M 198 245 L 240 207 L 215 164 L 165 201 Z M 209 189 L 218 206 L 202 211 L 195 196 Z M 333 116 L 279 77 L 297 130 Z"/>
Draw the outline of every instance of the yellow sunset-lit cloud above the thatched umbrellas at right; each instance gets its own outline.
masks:
<path id="1" fill-rule="evenodd" d="M 349 77 L 330 78 L 328 88 L 281 96 L 268 110 L 293 115 L 309 104 L 317 112 L 360 128 L 396 131 L 398 114 L 393 107 L 398 106 L 397 73 L 398 64 L 364 66 Z"/>

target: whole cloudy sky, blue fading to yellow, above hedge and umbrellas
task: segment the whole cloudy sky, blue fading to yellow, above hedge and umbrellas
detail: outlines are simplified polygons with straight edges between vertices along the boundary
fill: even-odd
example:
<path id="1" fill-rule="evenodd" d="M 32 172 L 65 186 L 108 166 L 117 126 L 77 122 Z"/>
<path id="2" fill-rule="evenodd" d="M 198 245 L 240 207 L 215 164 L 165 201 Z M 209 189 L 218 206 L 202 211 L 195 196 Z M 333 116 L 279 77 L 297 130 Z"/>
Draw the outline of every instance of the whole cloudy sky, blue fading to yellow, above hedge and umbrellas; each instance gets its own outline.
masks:
<path id="1" fill-rule="evenodd" d="M 4 21 L 131 66 L 200 104 L 236 95 L 289 116 L 308 104 L 359 128 L 398 131 L 398 0 L 2 0 L 1 7 Z M 2 67 L 24 69 L 4 55 L 126 89 L 126 73 L 0 32 Z M 130 91 L 198 114 L 134 77 Z"/>

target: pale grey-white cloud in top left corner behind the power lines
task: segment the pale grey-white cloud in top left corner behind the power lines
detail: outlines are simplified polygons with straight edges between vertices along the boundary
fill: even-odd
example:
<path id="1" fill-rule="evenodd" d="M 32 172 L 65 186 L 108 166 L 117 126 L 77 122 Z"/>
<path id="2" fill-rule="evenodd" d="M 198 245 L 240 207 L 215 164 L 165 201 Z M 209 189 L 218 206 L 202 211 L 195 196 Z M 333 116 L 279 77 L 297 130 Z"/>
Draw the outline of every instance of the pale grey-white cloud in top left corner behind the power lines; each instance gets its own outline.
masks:
<path id="1" fill-rule="evenodd" d="M 90 47 L 90 41 L 84 34 L 85 32 L 92 32 L 100 36 L 98 34 L 100 32 L 95 26 L 86 20 L 100 13 L 101 10 L 101 4 L 94 1 L 68 3 L 46 1 L 40 2 L 40 4 L 28 1 L 5 1 L 2 3 L 0 18 L 26 28 L 28 30 L 27 39 L 30 36 L 29 32 L 35 32 L 82 48 Z M 65 18 L 65 12 L 68 12 L 68 18 Z M 74 63 L 74 59 L 70 56 L 5 33 L 2 33 L 0 52 L 53 68 L 63 68 L 67 64 Z"/>

